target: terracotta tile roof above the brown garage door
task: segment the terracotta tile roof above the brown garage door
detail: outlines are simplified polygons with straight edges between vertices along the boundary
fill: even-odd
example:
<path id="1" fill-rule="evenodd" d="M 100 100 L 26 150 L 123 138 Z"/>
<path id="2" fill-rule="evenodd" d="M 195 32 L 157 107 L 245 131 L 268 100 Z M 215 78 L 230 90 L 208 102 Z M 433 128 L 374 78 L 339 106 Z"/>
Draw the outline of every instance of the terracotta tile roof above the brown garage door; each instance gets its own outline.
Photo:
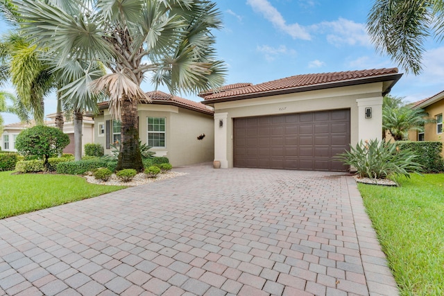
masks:
<path id="1" fill-rule="evenodd" d="M 223 87 L 219 92 L 203 96 L 205 101 L 229 98 L 234 96 L 247 96 L 252 94 L 273 93 L 284 89 L 298 89 L 315 85 L 332 85 L 334 82 L 345 82 L 350 80 L 359 80 L 377 76 L 386 76 L 389 74 L 398 74 L 397 68 L 369 69 L 359 71 L 342 71 L 332 73 L 314 73 L 302 74 L 282 78 L 278 80 L 260 83 L 258 85 L 246 85 L 224 90 Z M 399 79 L 399 78 L 398 78 Z"/>

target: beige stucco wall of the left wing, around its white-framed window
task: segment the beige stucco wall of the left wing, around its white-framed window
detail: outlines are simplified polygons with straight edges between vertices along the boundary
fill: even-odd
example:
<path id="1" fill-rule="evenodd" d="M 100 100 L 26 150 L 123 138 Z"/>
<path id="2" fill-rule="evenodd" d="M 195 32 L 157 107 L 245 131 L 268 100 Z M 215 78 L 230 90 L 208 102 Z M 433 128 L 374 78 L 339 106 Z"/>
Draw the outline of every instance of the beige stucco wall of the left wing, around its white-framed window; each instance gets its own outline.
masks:
<path id="1" fill-rule="evenodd" d="M 165 117 L 166 119 L 165 148 L 151 148 L 156 156 L 168 157 L 173 166 L 212 162 L 214 158 L 212 115 L 171 105 L 141 104 L 138 106 L 138 110 L 139 137 L 142 143 L 146 143 L 148 140 L 148 116 Z M 105 135 L 99 137 L 99 123 L 105 124 L 110 119 L 108 110 L 104 110 L 104 115 L 94 117 L 96 143 L 101 143 L 106 154 L 110 153 L 110 150 L 106 149 Z M 202 140 L 197 139 L 200 134 L 205 134 Z"/>

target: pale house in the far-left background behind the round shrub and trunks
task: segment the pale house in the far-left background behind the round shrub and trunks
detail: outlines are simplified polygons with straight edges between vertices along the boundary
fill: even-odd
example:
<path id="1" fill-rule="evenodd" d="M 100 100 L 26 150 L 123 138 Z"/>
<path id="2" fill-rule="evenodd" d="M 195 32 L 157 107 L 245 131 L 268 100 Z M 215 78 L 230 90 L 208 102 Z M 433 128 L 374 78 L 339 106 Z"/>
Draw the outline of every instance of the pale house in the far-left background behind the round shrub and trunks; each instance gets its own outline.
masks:
<path id="1" fill-rule="evenodd" d="M 55 127 L 56 123 L 54 119 L 56 114 L 48 114 L 46 117 L 49 121 L 45 121 L 44 124 Z M 35 123 L 11 123 L 3 127 L 3 134 L 1 135 L 1 150 L 17 151 L 15 150 L 15 139 L 17 135 L 25 130 L 31 128 Z M 63 149 L 63 153 L 74 154 L 74 123 L 67 121 L 63 125 L 63 132 L 69 136 L 69 145 Z M 83 117 L 83 130 L 82 130 L 82 155 L 84 154 L 85 143 L 94 143 L 94 121 L 92 118 Z"/>

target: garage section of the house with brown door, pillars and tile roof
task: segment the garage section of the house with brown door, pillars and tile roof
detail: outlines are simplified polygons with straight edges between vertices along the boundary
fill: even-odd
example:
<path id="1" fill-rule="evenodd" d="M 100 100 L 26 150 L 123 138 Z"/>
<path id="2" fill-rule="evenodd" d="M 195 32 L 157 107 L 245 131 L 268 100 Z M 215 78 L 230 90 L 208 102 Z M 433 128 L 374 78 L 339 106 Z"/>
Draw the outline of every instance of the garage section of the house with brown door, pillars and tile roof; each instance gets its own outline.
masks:
<path id="1" fill-rule="evenodd" d="M 200 94 L 214 107 L 214 160 L 222 168 L 345 171 L 334 159 L 381 139 L 382 97 L 398 69 L 291 76 Z"/>

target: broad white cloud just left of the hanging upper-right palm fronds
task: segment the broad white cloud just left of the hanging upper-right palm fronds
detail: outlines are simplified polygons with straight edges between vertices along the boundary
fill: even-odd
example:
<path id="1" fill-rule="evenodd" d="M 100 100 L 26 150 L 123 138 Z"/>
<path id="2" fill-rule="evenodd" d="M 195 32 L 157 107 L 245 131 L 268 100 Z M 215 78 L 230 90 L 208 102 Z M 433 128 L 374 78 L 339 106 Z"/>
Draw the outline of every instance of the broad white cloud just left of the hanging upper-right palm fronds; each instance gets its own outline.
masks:
<path id="1" fill-rule="evenodd" d="M 313 31 L 325 33 L 327 42 L 334 46 L 371 46 L 365 24 L 355 23 L 340 17 L 337 21 L 323 21 L 311 26 Z"/>

